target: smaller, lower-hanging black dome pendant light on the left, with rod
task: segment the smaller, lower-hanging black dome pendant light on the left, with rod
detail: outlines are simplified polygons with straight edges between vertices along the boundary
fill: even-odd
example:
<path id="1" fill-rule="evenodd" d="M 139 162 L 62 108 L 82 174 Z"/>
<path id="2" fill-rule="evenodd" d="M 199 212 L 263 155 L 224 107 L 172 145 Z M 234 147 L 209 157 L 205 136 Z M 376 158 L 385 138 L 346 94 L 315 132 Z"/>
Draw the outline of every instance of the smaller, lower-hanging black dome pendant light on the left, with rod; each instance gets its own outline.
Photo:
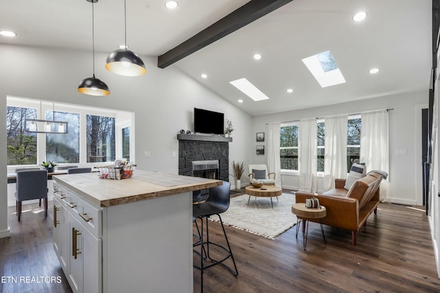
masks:
<path id="1" fill-rule="evenodd" d="M 83 80 L 81 80 L 81 83 L 78 86 L 78 91 L 81 94 L 86 94 L 90 96 L 108 96 L 110 94 L 109 87 L 107 87 L 107 85 L 102 80 L 99 80 L 95 77 L 94 3 L 98 2 L 98 0 L 87 0 L 87 2 L 91 2 L 91 40 L 94 61 L 94 75 L 92 77 L 84 78 Z"/>

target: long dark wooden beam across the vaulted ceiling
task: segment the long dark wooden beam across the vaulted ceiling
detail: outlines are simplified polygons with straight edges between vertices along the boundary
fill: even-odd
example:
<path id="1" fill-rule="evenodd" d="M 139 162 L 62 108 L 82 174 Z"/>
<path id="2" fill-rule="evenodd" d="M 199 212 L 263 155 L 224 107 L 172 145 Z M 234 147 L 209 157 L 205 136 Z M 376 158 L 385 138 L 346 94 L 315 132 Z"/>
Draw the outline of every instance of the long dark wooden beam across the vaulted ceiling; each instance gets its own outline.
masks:
<path id="1" fill-rule="evenodd" d="M 165 68 L 292 1 L 251 0 L 190 39 L 160 55 L 157 58 L 157 67 Z"/>

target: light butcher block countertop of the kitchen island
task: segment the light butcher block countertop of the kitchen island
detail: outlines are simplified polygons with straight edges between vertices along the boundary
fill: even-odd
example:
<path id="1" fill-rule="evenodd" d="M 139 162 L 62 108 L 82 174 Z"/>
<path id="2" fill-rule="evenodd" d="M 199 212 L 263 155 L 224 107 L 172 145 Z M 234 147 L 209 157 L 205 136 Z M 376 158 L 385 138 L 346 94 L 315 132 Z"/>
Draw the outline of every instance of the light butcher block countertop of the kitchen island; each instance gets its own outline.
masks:
<path id="1" fill-rule="evenodd" d="M 133 177 L 122 180 L 100 179 L 97 173 L 54 175 L 53 178 L 100 207 L 197 191 L 222 184 L 220 180 L 140 170 L 133 171 Z"/>

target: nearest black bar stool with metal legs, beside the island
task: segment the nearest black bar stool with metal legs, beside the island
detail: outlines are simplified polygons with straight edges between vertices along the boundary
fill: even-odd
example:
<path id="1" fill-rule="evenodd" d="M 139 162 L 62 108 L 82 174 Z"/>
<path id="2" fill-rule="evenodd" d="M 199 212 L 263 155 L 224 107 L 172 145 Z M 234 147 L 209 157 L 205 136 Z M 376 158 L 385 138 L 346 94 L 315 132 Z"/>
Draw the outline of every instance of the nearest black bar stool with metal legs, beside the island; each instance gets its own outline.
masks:
<path id="1" fill-rule="evenodd" d="M 206 199 L 206 202 L 203 202 L 201 204 L 193 204 L 192 205 L 192 221 L 195 222 L 197 226 L 197 219 L 200 219 L 201 221 L 201 228 L 199 230 L 199 227 L 197 226 L 197 230 L 200 232 L 200 241 L 197 241 L 194 243 L 193 247 L 200 246 L 200 251 L 194 250 L 197 254 L 200 255 L 200 265 L 195 265 L 194 268 L 197 268 L 200 270 L 200 285 L 201 285 L 201 292 L 203 292 L 203 270 L 206 270 L 208 268 L 211 268 L 214 265 L 221 265 L 223 268 L 226 268 L 233 274 L 234 276 L 238 276 L 239 272 L 236 269 L 236 264 L 234 260 L 234 255 L 232 255 L 232 250 L 229 245 L 228 236 L 226 236 L 226 231 L 223 226 L 223 221 L 221 220 L 221 213 L 224 213 L 229 208 L 229 191 L 230 191 L 230 183 L 223 181 L 223 185 L 212 187 L 209 189 L 209 197 Z M 219 243 L 213 243 L 209 241 L 209 231 L 208 231 L 208 217 L 212 215 L 219 216 L 221 228 L 223 229 L 223 235 L 225 235 L 226 244 L 228 245 L 228 248 L 225 246 L 220 245 Z M 203 239 L 203 219 L 205 219 L 206 223 L 206 241 Z M 225 256 L 220 259 L 212 259 L 209 252 L 210 245 L 217 246 L 218 248 L 221 248 L 226 252 Z M 205 250 L 206 246 L 206 250 Z M 230 268 L 228 265 L 225 265 L 223 261 L 226 259 L 232 259 L 232 263 L 234 264 L 234 270 Z M 203 263 L 203 260 L 209 259 L 212 263 L 209 265 L 205 265 Z"/>

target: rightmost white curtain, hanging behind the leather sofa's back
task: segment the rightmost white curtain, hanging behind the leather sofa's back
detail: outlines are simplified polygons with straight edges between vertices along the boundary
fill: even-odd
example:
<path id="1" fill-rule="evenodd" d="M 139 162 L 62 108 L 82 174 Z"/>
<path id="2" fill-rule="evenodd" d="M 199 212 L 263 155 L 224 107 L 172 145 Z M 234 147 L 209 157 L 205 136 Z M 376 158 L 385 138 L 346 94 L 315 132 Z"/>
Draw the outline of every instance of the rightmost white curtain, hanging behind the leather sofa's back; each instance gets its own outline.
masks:
<path id="1" fill-rule="evenodd" d="M 361 120 L 360 162 L 365 162 L 367 173 L 380 170 L 389 175 L 388 111 L 362 113 Z M 386 199 L 388 180 L 380 185 L 381 201 Z"/>

